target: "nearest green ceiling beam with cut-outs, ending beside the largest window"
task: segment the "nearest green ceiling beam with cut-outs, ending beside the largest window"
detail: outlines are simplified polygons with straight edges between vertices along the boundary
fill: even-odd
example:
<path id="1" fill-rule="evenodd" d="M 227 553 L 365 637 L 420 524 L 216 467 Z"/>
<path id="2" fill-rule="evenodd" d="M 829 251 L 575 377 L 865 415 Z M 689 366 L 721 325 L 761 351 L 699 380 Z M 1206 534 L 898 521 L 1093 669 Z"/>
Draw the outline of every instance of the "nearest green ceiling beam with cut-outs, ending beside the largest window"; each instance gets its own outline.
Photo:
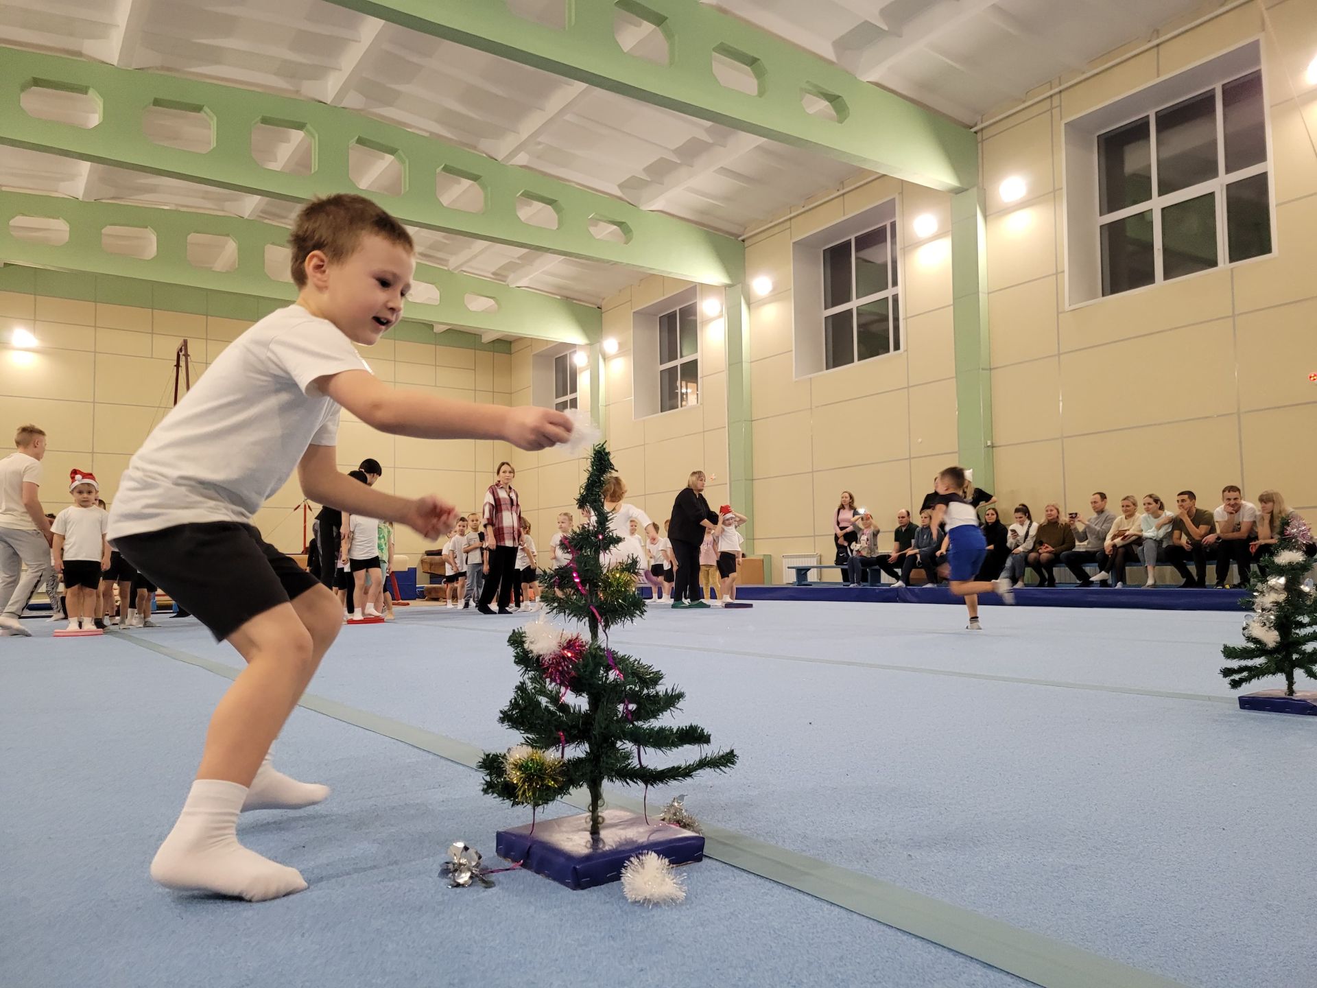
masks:
<path id="1" fill-rule="evenodd" d="M 331 3 L 931 188 L 959 191 L 977 180 L 977 140 L 968 128 L 695 0 L 560 0 L 561 29 L 499 0 Z M 664 34 L 666 65 L 622 50 L 614 37 L 619 13 Z M 759 92 L 719 83 L 715 55 L 757 79 Z M 830 104 L 835 119 L 807 112 L 806 96 Z"/>

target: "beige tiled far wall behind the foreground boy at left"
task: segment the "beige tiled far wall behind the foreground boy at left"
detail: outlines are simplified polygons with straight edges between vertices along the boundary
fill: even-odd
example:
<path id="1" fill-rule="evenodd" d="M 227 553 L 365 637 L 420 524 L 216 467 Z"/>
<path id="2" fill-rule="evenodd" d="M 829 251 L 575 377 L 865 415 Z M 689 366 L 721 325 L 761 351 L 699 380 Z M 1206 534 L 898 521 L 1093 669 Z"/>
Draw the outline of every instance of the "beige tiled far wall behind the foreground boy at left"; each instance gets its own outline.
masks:
<path id="1" fill-rule="evenodd" d="M 16 325 L 32 328 L 41 346 L 0 348 L 0 423 L 5 431 L 36 422 L 49 433 L 42 502 L 47 511 L 70 503 L 62 482 L 74 466 L 91 469 L 113 502 L 128 460 L 174 398 L 174 353 L 184 339 L 192 379 L 250 323 L 233 319 L 105 306 L 0 292 L 0 339 Z M 362 353 L 379 378 L 399 387 L 479 402 L 507 403 L 495 378 L 508 379 L 510 354 L 429 344 L 381 341 Z M 494 469 L 494 444 L 432 443 L 386 436 L 342 414 L 338 465 L 379 460 L 382 490 L 437 493 L 469 510 L 483 497 Z M 302 491 L 291 478 L 255 518 L 267 539 L 286 552 L 302 549 Z M 400 552 L 423 548 L 399 531 Z"/>

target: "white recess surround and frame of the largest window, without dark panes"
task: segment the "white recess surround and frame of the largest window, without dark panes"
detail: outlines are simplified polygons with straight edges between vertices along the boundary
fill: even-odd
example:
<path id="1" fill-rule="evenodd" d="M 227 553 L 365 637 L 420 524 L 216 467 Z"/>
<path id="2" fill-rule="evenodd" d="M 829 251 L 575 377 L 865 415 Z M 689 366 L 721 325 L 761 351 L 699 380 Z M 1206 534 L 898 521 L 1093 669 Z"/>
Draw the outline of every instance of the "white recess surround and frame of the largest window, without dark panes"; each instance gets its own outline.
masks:
<path id="1" fill-rule="evenodd" d="M 1239 169 L 1222 177 L 1225 153 L 1223 128 L 1225 117 L 1221 113 L 1220 96 L 1217 97 L 1217 178 L 1202 182 L 1191 188 L 1177 190 L 1166 196 L 1158 196 L 1156 184 L 1152 186 L 1154 196 L 1144 200 L 1139 207 L 1127 207 L 1110 213 L 1101 213 L 1101 199 L 1098 194 L 1098 153 L 1097 137 L 1142 117 L 1155 117 L 1158 112 L 1177 103 L 1183 103 L 1195 95 L 1206 92 L 1216 87 L 1218 91 L 1225 84 L 1243 75 L 1259 70 L 1262 71 L 1262 104 L 1263 123 L 1266 133 L 1267 158 L 1266 162 Z M 1150 133 L 1150 153 L 1152 163 L 1156 162 L 1156 133 L 1155 119 Z M 1108 299 L 1126 298 L 1135 292 L 1152 291 L 1162 285 L 1183 282 L 1188 278 L 1198 278 L 1223 267 L 1254 263 L 1275 257 L 1280 252 L 1279 231 L 1276 228 L 1276 174 L 1275 149 L 1271 134 L 1271 96 L 1267 84 L 1267 66 L 1262 57 L 1262 37 L 1254 37 L 1237 43 L 1235 46 L 1209 55 L 1193 65 L 1185 66 L 1175 75 L 1166 76 L 1138 90 L 1117 96 L 1108 103 L 1093 109 L 1085 109 L 1073 117 L 1062 121 L 1062 174 L 1064 175 L 1065 211 L 1064 211 L 1064 270 L 1065 270 L 1065 311 L 1083 308 L 1085 306 L 1100 304 Z M 1225 213 L 1225 187 L 1233 182 L 1249 178 L 1251 174 L 1267 173 L 1267 206 L 1271 221 L 1271 250 L 1242 261 L 1230 261 L 1226 253 L 1226 213 Z M 1156 175 L 1154 173 L 1154 183 Z M 1162 216 L 1160 209 L 1166 206 L 1175 206 L 1177 202 L 1193 199 L 1206 191 L 1217 190 L 1217 258 L 1216 267 L 1208 267 L 1193 274 L 1180 275 L 1169 281 L 1163 279 L 1162 256 Z M 1146 212 L 1150 203 L 1156 203 L 1154 211 L 1154 278 L 1150 285 L 1129 288 L 1113 295 L 1102 294 L 1102 227 L 1115 219 Z"/>

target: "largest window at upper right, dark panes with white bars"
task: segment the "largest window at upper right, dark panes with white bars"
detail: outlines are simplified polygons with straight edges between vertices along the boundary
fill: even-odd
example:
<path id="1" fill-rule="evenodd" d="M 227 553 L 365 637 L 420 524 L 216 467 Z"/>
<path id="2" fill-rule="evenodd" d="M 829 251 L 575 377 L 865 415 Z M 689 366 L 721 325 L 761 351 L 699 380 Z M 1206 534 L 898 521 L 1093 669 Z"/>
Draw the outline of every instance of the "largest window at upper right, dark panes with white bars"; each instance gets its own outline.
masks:
<path id="1" fill-rule="evenodd" d="M 1262 72 L 1097 134 L 1101 294 L 1271 253 Z"/>

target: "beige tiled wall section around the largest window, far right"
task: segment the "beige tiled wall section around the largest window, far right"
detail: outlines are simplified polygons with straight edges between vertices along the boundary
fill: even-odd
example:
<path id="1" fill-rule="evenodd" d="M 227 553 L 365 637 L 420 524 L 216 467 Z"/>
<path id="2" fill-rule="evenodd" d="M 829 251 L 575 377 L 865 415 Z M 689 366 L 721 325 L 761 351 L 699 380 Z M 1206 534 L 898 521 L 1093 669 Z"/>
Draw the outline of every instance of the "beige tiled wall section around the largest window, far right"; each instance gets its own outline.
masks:
<path id="1" fill-rule="evenodd" d="M 1305 447 L 1317 432 L 1308 381 L 1317 370 L 1317 100 L 1304 80 L 1317 0 L 1264 9 L 1270 24 L 1259 5 L 1242 7 L 984 132 L 1004 502 L 1025 501 L 1036 516 L 1048 501 L 1084 510 L 1094 489 L 1169 499 L 1192 487 L 1216 505 L 1223 485 L 1239 483 L 1245 497 L 1277 487 L 1295 507 L 1317 506 L 1317 460 Z M 1062 121 L 1259 36 L 1277 253 L 1067 311 Z M 1000 200 L 1006 175 L 1026 179 L 1025 200 Z"/>

